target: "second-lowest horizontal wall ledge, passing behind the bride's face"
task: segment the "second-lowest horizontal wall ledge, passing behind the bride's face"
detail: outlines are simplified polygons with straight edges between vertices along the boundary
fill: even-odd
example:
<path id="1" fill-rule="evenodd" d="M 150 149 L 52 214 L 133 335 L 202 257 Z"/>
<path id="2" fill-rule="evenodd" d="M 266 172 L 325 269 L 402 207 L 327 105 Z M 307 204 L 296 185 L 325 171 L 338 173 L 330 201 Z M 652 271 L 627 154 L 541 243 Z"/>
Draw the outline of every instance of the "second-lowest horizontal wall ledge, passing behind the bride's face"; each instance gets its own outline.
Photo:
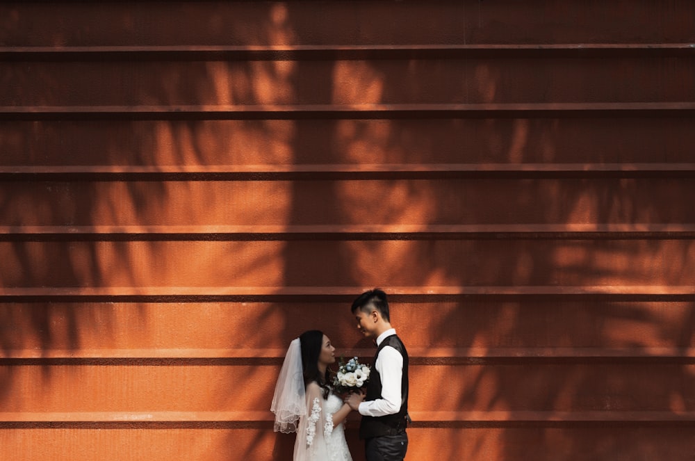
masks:
<path id="1" fill-rule="evenodd" d="M 286 353 L 285 348 L 149 348 L 149 349 L 3 349 L 0 350 L 0 361 L 40 361 L 50 364 L 52 361 L 81 361 L 105 364 L 234 364 L 235 362 L 254 362 L 257 364 L 280 365 Z M 338 349 L 337 355 L 345 357 L 362 357 L 371 359 L 374 349 Z M 409 347 L 408 354 L 414 365 L 430 364 L 483 364 L 486 360 L 499 361 L 523 359 L 611 359 L 619 362 L 626 359 L 630 362 L 647 360 L 660 362 L 661 359 L 676 359 L 690 362 L 695 359 L 695 348 L 677 347 L 634 347 L 634 348 L 591 348 L 591 347 L 516 347 L 516 348 L 423 348 Z"/>

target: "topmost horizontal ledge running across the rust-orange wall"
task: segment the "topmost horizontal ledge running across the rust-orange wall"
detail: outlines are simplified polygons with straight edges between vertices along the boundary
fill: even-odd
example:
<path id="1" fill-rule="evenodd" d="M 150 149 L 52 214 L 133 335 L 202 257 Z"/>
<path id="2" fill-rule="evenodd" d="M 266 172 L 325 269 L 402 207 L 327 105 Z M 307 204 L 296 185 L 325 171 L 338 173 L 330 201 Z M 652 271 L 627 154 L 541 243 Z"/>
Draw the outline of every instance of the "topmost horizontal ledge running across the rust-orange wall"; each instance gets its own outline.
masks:
<path id="1" fill-rule="evenodd" d="M 0 47 L 4 60 L 323 60 L 362 58 L 692 56 L 692 43 L 492 45 L 151 45 Z"/>

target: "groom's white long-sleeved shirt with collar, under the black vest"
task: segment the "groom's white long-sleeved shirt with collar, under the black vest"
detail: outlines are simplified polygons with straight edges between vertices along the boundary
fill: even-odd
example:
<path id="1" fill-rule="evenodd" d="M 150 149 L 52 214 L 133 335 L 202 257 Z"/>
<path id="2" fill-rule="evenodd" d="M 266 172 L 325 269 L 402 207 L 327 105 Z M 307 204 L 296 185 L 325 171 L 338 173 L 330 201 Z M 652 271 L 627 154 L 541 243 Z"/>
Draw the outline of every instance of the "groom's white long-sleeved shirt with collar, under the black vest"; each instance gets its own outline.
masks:
<path id="1" fill-rule="evenodd" d="M 377 338 L 377 347 L 384 339 L 395 334 L 391 328 Z M 391 346 L 384 346 L 374 362 L 374 368 L 382 379 L 382 398 L 359 404 L 359 414 L 364 416 L 386 416 L 400 411 L 400 386 L 403 376 L 403 356 Z"/>

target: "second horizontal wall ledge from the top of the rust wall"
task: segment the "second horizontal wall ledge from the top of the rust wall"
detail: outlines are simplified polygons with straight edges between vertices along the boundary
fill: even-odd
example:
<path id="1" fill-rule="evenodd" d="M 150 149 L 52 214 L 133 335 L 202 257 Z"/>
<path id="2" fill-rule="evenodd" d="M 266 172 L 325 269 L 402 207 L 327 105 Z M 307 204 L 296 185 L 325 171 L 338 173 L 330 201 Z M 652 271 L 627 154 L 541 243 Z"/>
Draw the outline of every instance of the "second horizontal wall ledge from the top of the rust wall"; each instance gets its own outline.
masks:
<path id="1" fill-rule="evenodd" d="M 0 120 L 293 120 L 692 115 L 695 102 L 0 106 Z"/>

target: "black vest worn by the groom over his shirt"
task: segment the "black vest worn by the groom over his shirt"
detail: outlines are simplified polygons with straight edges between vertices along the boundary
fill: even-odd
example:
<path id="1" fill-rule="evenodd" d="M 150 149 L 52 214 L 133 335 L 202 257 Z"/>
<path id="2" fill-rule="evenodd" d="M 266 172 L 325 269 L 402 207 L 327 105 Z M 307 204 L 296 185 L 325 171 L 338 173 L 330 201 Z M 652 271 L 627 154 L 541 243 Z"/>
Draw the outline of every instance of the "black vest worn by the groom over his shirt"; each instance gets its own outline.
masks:
<path id="1" fill-rule="evenodd" d="M 392 334 L 379 344 L 374 362 L 377 362 L 379 352 L 386 346 L 391 346 L 403 356 L 403 375 L 400 382 L 400 411 L 386 416 L 362 416 L 359 425 L 359 438 L 380 437 L 382 435 L 396 435 L 405 430 L 406 415 L 408 414 L 408 352 L 398 336 Z M 382 398 L 382 378 L 375 366 L 372 366 L 367 385 L 365 401 L 373 401 Z"/>

